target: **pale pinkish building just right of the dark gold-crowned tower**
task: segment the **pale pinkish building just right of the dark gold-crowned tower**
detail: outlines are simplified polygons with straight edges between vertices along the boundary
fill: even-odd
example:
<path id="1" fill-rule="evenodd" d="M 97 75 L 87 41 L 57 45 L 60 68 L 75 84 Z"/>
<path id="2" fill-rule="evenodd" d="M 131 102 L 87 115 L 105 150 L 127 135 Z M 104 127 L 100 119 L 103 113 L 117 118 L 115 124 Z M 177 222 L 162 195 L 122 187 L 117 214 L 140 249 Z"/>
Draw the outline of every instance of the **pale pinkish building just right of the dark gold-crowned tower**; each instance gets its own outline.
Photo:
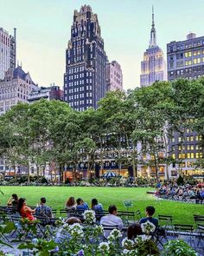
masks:
<path id="1" fill-rule="evenodd" d="M 116 61 L 106 63 L 106 89 L 123 91 L 123 73 L 120 64 Z"/>

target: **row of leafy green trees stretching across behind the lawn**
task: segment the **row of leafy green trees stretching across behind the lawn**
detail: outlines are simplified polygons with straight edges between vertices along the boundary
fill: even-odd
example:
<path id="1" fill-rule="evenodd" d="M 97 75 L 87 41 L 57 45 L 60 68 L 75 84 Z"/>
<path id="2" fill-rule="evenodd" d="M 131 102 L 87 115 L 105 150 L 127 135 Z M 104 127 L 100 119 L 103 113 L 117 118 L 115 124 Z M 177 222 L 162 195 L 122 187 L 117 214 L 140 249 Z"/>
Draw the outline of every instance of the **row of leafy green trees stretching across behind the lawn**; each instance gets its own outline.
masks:
<path id="1" fill-rule="evenodd" d="M 67 166 L 73 169 L 73 180 L 85 161 L 88 171 L 99 161 L 104 169 L 105 150 L 112 148 L 119 174 L 122 166 L 131 166 L 136 178 L 137 160 L 142 159 L 143 165 L 152 167 L 158 181 L 161 164 L 168 168 L 175 161 L 168 155 L 172 136 L 183 135 L 185 128 L 204 135 L 203 98 L 201 78 L 155 82 L 127 95 L 121 91 L 108 92 L 97 110 L 89 108 L 81 113 L 65 102 L 18 103 L 0 116 L 0 155 L 10 169 L 25 167 L 27 181 L 32 179 L 31 162 L 35 163 L 37 180 L 45 176 L 46 165 L 54 162 L 62 181 Z M 140 152 L 137 152 L 138 142 L 142 145 Z M 161 157 L 163 149 L 165 155 Z M 147 154 L 151 160 L 143 159 Z M 166 175 L 168 178 L 168 172 Z M 15 174 L 14 183 L 16 179 Z"/>

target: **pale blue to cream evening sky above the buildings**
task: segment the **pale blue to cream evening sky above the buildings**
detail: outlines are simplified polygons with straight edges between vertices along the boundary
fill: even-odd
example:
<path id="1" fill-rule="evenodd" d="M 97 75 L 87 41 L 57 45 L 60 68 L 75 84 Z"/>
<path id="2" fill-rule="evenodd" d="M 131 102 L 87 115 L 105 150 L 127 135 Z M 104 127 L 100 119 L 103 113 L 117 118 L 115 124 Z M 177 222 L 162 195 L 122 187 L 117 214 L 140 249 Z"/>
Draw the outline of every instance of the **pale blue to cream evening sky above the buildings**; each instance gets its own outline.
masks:
<path id="1" fill-rule="evenodd" d="M 140 62 L 150 42 L 154 5 L 157 44 L 204 36 L 204 0 L 0 0 L 0 27 L 17 29 L 17 60 L 39 86 L 63 87 L 73 10 L 89 4 L 98 14 L 109 61 L 120 63 L 124 89 L 139 86 Z"/>

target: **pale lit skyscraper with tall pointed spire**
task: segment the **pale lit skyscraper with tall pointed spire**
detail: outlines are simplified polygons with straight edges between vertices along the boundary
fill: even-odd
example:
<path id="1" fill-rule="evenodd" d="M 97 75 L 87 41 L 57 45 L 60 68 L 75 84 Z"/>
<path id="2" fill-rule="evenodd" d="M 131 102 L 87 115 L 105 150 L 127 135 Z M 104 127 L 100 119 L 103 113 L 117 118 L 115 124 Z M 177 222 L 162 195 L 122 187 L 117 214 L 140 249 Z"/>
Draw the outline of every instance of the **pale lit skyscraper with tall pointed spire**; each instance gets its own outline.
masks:
<path id="1" fill-rule="evenodd" d="M 154 9 L 152 8 L 152 24 L 150 31 L 150 45 L 143 53 L 143 62 L 141 62 L 140 85 L 145 87 L 156 81 L 165 81 L 166 62 L 163 56 L 163 50 L 156 44 L 156 29 L 154 21 Z"/>

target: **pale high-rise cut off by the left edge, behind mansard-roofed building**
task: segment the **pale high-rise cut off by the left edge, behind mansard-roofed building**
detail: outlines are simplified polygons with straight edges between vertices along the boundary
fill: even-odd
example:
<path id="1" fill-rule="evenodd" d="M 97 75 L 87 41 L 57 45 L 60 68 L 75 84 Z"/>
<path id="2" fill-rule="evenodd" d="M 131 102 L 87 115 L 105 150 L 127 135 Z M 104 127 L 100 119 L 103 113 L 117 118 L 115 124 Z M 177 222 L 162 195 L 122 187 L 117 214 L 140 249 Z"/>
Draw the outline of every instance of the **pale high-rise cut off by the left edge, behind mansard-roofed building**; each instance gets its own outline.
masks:
<path id="1" fill-rule="evenodd" d="M 1 81 L 6 71 L 16 68 L 16 29 L 14 29 L 14 36 L 11 36 L 6 30 L 0 28 L 0 49 Z"/>

